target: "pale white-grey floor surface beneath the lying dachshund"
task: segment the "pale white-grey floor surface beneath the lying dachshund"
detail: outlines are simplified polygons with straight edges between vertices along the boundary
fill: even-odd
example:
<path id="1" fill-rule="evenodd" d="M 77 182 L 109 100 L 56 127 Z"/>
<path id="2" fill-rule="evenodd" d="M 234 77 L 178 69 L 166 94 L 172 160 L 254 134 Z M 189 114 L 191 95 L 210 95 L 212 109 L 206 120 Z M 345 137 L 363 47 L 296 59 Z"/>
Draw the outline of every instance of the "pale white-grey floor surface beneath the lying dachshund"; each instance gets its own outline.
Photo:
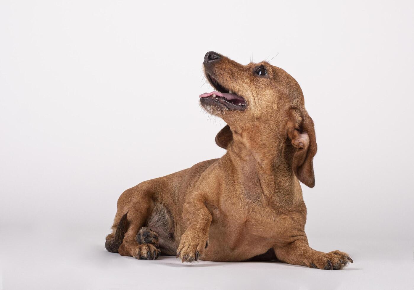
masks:
<path id="1" fill-rule="evenodd" d="M 414 289 L 409 241 L 312 237 L 313 248 L 343 250 L 354 259 L 345 270 L 326 271 L 278 262 L 136 260 L 106 252 L 105 235 L 73 228 L 3 229 L 3 289 Z"/>

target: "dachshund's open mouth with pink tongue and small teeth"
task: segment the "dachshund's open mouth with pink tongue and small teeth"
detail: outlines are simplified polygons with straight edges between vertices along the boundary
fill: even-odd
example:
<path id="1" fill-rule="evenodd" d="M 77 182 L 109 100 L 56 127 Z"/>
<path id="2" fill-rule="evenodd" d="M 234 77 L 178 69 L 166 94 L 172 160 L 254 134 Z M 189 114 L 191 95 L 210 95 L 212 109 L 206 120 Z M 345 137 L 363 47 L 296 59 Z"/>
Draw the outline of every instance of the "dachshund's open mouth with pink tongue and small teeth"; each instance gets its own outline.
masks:
<path id="1" fill-rule="evenodd" d="M 219 107 L 226 107 L 229 110 L 245 110 L 247 107 L 246 100 L 234 93 L 231 90 L 222 86 L 214 77 L 206 74 L 210 84 L 217 91 L 211 93 L 203 93 L 200 95 L 200 101 L 202 104 L 218 105 Z"/>

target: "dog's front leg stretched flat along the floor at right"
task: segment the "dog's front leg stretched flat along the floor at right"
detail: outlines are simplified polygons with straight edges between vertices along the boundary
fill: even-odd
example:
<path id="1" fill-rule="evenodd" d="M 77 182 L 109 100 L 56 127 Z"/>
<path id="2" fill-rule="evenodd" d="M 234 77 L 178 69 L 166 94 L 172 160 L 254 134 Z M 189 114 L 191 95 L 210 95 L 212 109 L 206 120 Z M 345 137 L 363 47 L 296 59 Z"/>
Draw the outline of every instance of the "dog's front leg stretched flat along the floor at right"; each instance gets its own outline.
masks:
<path id="1" fill-rule="evenodd" d="M 275 246 L 273 249 L 278 260 L 310 268 L 338 270 L 346 266 L 348 261 L 354 263 L 347 253 L 338 250 L 324 253 L 312 249 L 306 236 L 289 244 Z"/>

